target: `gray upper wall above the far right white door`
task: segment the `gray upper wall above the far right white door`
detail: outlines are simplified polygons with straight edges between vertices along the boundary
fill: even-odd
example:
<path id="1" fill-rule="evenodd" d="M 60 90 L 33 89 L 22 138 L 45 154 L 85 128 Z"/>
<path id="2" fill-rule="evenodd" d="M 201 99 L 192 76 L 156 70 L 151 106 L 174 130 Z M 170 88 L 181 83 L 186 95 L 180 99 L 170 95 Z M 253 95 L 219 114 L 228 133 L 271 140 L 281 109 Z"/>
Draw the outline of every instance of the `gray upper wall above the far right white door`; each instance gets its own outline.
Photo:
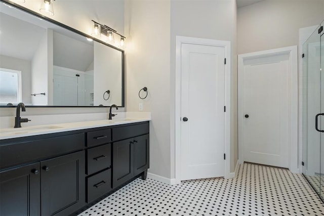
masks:
<path id="1" fill-rule="evenodd" d="M 299 28 L 324 19 L 322 0 L 265 0 L 237 10 L 237 53 L 299 44 Z"/>

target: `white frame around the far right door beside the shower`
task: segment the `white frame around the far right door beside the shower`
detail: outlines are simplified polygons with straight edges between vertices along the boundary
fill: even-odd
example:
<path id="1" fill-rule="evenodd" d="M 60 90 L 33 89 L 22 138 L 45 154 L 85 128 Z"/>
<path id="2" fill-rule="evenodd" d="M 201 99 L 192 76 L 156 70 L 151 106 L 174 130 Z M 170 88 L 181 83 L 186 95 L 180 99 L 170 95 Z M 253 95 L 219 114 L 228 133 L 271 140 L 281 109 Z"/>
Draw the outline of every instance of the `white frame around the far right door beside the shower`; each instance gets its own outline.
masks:
<path id="1" fill-rule="evenodd" d="M 292 172 L 299 173 L 298 163 L 298 63 L 297 46 L 284 47 L 272 50 L 264 50 L 253 53 L 240 54 L 237 56 L 238 65 L 238 163 L 244 162 L 243 144 L 240 138 L 243 136 L 242 130 L 242 110 L 243 105 L 243 82 L 244 60 L 262 58 L 267 56 L 278 56 L 282 54 L 289 55 L 289 169 Z"/>

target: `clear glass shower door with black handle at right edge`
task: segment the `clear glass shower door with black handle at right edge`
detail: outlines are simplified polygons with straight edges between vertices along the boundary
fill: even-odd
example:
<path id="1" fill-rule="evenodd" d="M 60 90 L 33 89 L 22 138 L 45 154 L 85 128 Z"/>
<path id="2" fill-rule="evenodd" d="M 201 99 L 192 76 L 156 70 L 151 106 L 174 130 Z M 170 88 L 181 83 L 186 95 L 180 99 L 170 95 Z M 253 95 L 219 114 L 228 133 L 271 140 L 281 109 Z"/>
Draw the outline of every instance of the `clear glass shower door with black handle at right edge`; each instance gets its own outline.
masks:
<path id="1" fill-rule="evenodd" d="M 323 133 L 319 133 L 315 129 L 315 116 L 321 113 L 321 53 L 318 28 L 304 43 L 303 53 L 303 174 L 315 191 L 320 194 L 320 177 L 323 173 L 320 167 L 320 138 Z M 324 123 L 324 116 L 322 118 Z M 318 126 L 321 126 L 320 123 Z"/>

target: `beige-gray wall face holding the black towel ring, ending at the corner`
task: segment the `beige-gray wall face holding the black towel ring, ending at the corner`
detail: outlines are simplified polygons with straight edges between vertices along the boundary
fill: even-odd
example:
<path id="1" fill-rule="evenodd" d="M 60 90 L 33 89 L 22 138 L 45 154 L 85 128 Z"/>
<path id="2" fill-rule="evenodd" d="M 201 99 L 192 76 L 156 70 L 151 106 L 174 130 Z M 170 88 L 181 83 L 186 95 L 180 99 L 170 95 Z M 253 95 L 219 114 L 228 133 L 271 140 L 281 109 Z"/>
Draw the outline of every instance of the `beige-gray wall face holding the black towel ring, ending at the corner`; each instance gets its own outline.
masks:
<path id="1" fill-rule="evenodd" d="M 171 177 L 170 1 L 126 1 L 126 109 L 151 112 L 149 172 Z M 148 88 L 145 100 L 138 97 Z"/>

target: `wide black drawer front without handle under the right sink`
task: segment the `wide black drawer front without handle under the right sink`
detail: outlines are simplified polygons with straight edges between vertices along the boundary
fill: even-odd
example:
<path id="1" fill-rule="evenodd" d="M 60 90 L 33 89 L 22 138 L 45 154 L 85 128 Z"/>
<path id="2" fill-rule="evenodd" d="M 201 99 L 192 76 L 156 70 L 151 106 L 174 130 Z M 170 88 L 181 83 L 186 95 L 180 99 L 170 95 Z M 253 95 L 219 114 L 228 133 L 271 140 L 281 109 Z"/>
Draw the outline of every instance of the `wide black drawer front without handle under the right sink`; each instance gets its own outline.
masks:
<path id="1" fill-rule="evenodd" d="M 149 123 L 116 127 L 112 129 L 112 140 L 125 140 L 149 133 Z"/>

